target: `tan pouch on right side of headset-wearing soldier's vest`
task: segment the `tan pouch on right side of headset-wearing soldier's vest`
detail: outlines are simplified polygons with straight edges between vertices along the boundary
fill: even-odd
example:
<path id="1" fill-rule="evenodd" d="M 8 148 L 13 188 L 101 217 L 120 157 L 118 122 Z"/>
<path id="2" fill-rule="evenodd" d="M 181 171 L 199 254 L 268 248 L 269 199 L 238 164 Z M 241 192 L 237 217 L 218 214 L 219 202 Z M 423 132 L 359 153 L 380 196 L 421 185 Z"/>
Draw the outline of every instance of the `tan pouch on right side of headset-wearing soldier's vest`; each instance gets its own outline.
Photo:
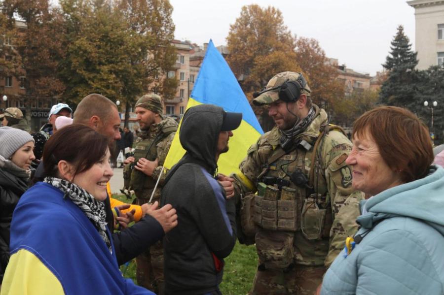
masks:
<path id="1" fill-rule="evenodd" d="M 310 195 L 310 197 L 305 198 L 302 207 L 300 229 L 304 237 L 308 240 L 320 240 L 326 236 L 325 228 L 328 210 L 319 208 L 317 200 L 320 197 L 319 194 Z M 331 227 L 331 221 L 329 223 Z M 328 229 L 328 231 L 330 231 L 330 229 Z M 327 234 L 327 236 L 329 236 L 329 234 Z"/>

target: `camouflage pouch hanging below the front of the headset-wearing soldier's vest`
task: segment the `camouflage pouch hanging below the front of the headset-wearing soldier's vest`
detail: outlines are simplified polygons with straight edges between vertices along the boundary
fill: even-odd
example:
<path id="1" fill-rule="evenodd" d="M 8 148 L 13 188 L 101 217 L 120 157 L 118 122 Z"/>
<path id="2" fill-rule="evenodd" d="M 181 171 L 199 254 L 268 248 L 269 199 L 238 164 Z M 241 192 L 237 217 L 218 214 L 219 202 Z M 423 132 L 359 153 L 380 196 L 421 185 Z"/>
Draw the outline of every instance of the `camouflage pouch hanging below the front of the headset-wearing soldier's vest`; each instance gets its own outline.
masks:
<path id="1" fill-rule="evenodd" d="M 259 230 L 256 233 L 259 261 L 267 269 L 289 267 L 294 257 L 293 241 L 293 232 Z"/>

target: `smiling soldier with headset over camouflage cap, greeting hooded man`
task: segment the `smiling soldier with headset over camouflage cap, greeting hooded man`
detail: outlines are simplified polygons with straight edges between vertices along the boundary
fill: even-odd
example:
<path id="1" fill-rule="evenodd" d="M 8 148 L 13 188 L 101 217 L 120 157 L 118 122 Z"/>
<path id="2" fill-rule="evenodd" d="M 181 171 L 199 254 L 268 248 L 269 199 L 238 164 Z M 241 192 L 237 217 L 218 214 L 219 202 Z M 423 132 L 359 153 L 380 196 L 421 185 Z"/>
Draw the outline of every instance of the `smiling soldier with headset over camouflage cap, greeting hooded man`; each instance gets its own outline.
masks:
<path id="1" fill-rule="evenodd" d="M 256 242 L 259 256 L 252 294 L 313 294 L 357 229 L 363 196 L 352 189 L 345 164 L 351 142 L 329 126 L 310 92 L 302 74 L 282 72 L 254 94 L 253 103 L 267 104 L 276 126 L 232 175 L 239 240 Z"/>

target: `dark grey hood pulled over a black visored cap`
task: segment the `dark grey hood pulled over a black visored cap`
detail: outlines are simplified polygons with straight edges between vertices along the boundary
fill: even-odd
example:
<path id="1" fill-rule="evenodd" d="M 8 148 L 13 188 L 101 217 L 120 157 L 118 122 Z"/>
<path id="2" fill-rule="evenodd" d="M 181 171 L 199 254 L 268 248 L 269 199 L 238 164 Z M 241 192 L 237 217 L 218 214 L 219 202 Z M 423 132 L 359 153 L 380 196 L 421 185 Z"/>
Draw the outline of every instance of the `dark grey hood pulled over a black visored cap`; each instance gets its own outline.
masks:
<path id="1" fill-rule="evenodd" d="M 217 168 L 216 152 L 219 133 L 236 129 L 241 120 L 241 113 L 227 113 L 222 107 L 213 104 L 191 107 L 185 112 L 179 131 L 182 147 L 188 155 L 203 161 L 214 171 Z M 224 126 L 223 129 L 222 126 Z"/>

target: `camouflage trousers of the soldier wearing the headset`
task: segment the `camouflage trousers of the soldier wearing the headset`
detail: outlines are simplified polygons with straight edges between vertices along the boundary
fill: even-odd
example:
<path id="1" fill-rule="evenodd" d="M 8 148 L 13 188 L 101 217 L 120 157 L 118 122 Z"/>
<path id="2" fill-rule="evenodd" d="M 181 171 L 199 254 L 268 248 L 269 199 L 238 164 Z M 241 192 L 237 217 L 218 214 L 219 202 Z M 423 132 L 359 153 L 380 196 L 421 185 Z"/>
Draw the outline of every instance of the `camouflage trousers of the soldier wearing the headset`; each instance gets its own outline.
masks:
<path id="1" fill-rule="evenodd" d="M 259 270 L 259 268 L 251 295 L 313 295 L 322 283 L 322 276 L 325 273 L 324 266 L 295 265 L 286 272 L 273 269 Z"/>

